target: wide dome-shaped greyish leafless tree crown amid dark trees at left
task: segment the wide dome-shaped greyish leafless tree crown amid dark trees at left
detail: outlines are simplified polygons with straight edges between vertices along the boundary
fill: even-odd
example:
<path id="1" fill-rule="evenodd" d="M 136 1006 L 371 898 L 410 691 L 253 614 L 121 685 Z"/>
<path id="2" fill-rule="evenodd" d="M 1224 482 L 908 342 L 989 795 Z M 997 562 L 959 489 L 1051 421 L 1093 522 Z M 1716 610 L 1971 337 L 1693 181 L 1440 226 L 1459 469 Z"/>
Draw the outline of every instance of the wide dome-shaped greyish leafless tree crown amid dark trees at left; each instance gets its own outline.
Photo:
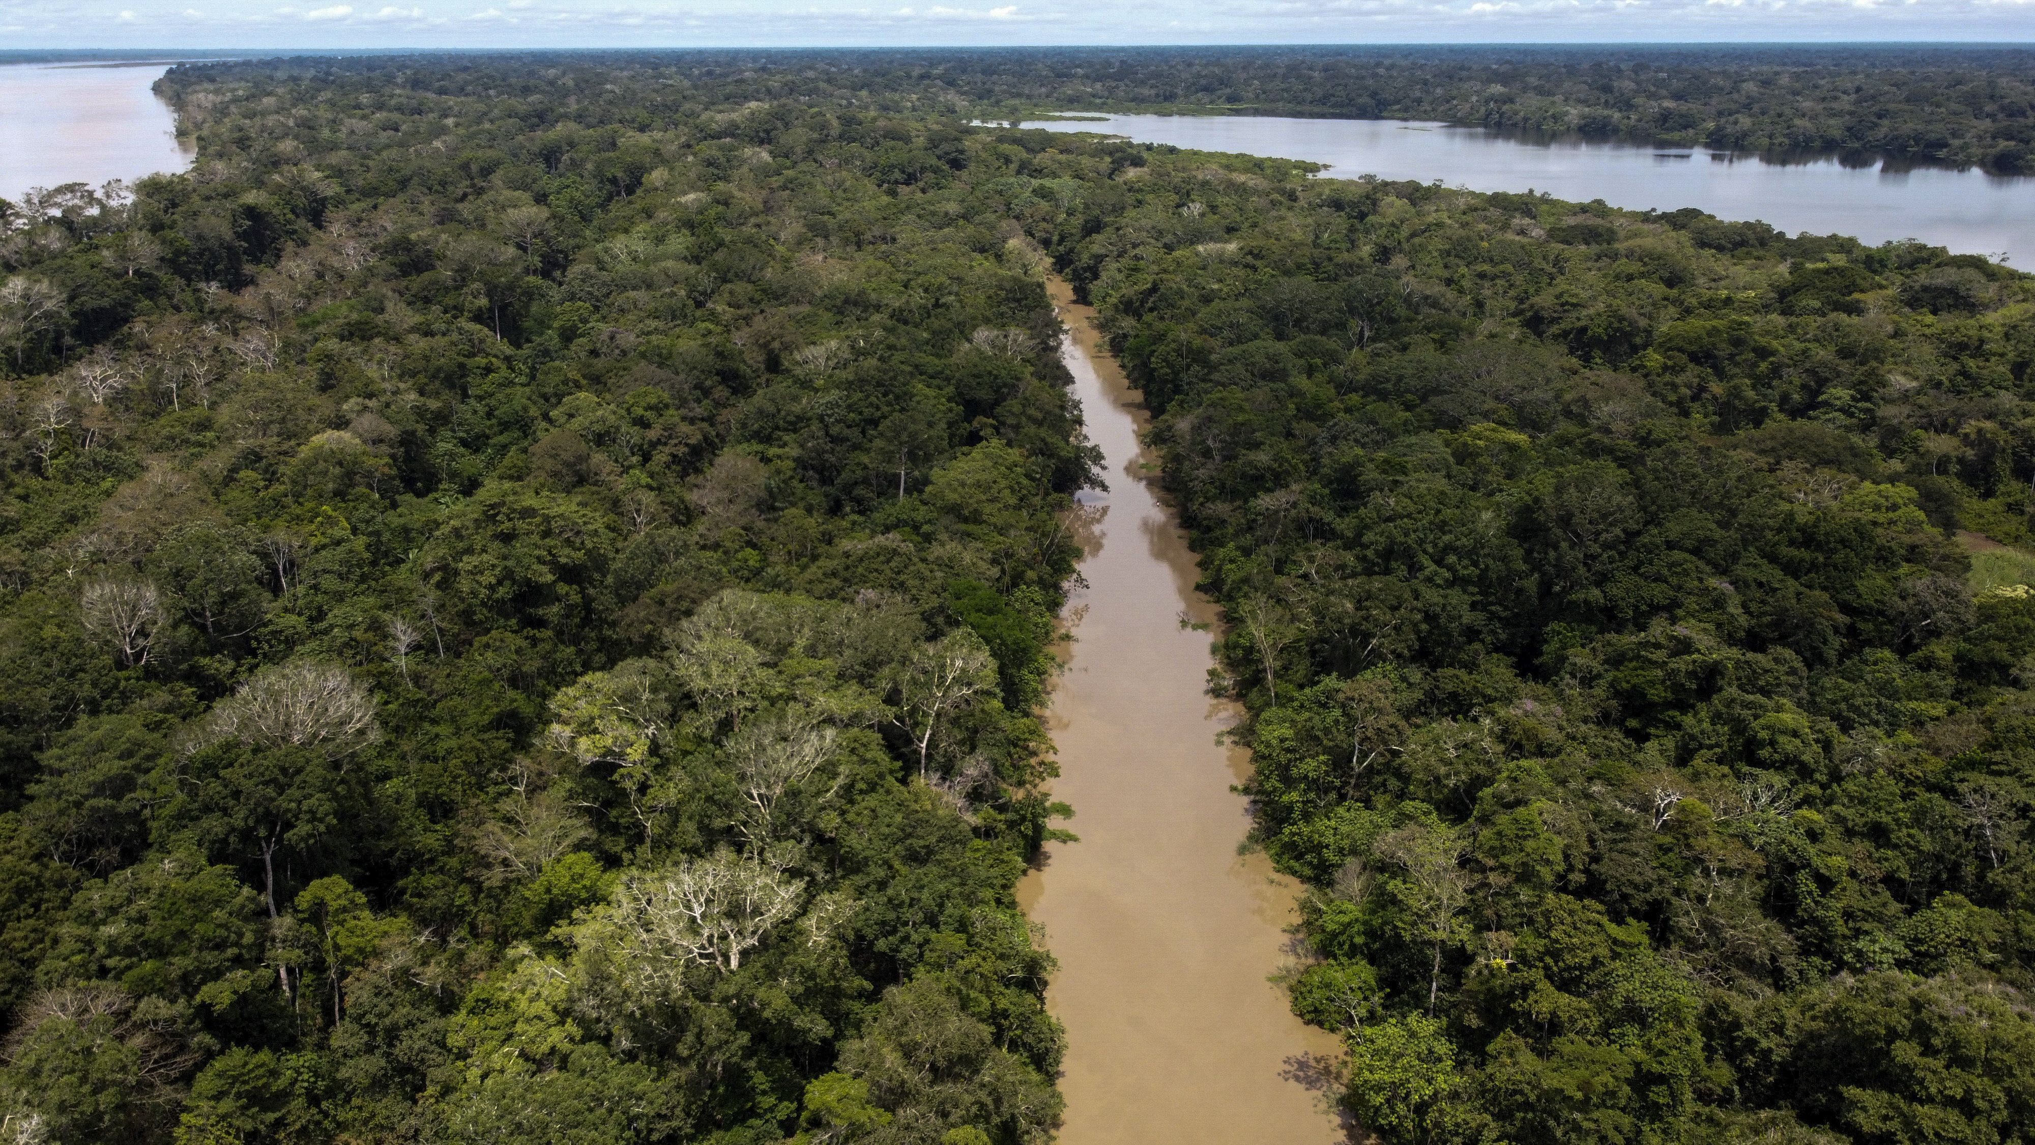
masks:
<path id="1" fill-rule="evenodd" d="M 374 697 L 352 672 L 313 660 L 263 668 L 212 707 L 191 748 L 240 740 L 265 748 L 317 748 L 344 758 L 381 740 Z"/>

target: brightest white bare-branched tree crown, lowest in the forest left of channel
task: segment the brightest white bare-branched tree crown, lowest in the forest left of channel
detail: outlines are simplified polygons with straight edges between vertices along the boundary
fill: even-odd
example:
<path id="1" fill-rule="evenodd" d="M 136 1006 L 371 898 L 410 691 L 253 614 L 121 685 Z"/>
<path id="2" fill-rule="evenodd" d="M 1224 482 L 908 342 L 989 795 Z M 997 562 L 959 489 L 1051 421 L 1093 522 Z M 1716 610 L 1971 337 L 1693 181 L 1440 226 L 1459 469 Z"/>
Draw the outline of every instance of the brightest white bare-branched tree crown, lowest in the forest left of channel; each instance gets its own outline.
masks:
<path id="1" fill-rule="evenodd" d="M 798 913 L 804 882 L 716 852 L 674 868 L 625 874 L 613 921 L 623 964 L 676 976 L 684 964 L 737 970 L 771 927 Z"/>

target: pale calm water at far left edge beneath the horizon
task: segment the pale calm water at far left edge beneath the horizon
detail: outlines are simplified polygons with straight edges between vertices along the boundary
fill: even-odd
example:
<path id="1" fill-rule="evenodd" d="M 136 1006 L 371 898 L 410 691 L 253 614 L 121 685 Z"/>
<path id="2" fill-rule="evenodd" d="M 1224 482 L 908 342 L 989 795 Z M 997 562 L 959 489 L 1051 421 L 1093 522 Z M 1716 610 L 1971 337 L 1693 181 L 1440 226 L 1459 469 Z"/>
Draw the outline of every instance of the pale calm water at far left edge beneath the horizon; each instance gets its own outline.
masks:
<path id="1" fill-rule="evenodd" d="M 175 114 L 149 90 L 163 71 L 167 63 L 0 67 L 0 198 L 189 167 Z"/>

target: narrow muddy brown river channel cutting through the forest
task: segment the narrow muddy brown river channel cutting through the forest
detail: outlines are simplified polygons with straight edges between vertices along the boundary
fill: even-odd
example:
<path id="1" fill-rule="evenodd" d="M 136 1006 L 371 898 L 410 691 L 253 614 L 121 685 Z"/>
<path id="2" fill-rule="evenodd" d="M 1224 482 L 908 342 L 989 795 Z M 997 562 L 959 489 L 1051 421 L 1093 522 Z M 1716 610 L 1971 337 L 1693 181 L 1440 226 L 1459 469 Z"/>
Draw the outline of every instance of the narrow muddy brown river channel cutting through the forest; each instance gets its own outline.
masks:
<path id="1" fill-rule="evenodd" d="M 1239 856 L 1249 827 L 1231 784 L 1249 756 L 1215 742 L 1235 719 L 1207 695 L 1215 621 L 1195 556 L 1158 501 L 1144 416 L 1066 283 L 1064 357 L 1103 448 L 1109 493 L 1085 495 L 1087 587 L 1048 713 L 1054 797 L 1079 843 L 1048 850 L 1018 888 L 1060 960 L 1046 1004 L 1066 1023 L 1062 1145 L 1327 1145 L 1347 1131 L 1323 1094 L 1333 1035 L 1302 1025 L 1266 978 L 1290 962 L 1292 880 Z"/>

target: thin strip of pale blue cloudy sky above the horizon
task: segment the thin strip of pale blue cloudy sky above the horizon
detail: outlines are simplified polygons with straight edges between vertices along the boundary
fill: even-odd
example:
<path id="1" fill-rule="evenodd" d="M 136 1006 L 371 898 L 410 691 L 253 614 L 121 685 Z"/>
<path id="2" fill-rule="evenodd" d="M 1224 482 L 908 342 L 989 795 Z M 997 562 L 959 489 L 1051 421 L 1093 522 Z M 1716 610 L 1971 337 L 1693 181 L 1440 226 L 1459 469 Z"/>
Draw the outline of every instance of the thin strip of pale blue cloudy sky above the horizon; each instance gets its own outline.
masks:
<path id="1" fill-rule="evenodd" d="M 2035 41 L 2035 0 L 0 0 L 8 49 Z"/>

